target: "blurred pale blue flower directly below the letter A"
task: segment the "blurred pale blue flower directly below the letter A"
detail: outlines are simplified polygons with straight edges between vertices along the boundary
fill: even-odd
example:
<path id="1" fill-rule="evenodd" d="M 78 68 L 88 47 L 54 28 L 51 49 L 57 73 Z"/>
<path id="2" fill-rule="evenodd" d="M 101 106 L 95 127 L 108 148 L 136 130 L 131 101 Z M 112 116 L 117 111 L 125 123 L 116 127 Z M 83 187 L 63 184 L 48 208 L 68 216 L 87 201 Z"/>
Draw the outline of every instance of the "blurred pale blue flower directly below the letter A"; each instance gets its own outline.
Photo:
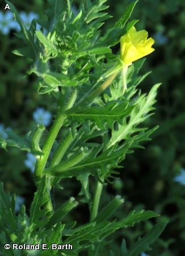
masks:
<path id="1" fill-rule="evenodd" d="M 17 30 L 17 28 L 18 23 L 14 20 L 14 15 L 11 11 L 6 11 L 5 14 L 0 11 L 0 31 L 2 34 L 7 35 L 11 29 Z"/>

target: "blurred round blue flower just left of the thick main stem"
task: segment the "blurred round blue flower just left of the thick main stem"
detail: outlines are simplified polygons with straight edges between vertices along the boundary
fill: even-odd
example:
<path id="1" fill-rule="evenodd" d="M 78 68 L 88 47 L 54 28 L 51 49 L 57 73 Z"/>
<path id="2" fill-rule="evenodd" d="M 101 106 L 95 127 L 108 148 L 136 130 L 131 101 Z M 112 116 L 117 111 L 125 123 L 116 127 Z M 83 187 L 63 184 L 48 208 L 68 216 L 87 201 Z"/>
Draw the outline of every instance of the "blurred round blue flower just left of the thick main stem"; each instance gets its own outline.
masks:
<path id="1" fill-rule="evenodd" d="M 36 123 L 43 123 L 44 126 L 48 126 L 52 121 L 52 114 L 49 111 L 45 111 L 44 108 L 37 108 L 33 112 L 33 118 Z"/>

